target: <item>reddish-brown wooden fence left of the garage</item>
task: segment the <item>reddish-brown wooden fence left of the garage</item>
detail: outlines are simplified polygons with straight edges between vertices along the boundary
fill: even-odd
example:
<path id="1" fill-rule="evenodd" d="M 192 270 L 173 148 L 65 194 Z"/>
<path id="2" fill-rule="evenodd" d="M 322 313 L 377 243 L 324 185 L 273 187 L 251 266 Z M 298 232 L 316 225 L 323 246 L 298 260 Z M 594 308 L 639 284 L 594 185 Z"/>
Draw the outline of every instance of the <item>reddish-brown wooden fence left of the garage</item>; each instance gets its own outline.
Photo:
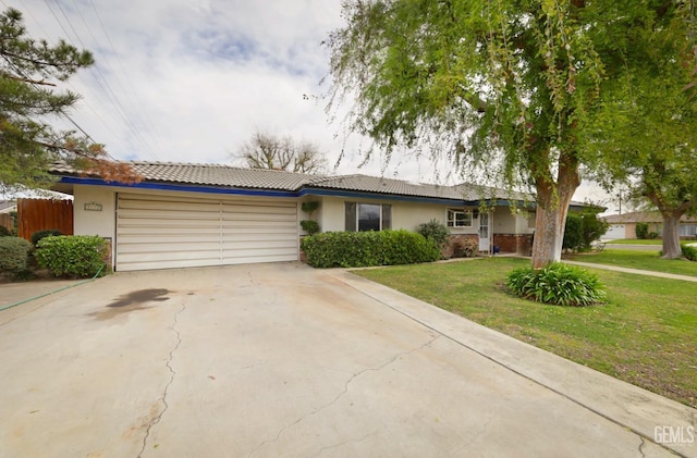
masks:
<path id="1" fill-rule="evenodd" d="M 17 200 L 19 236 L 32 240 L 32 234 L 44 230 L 59 230 L 73 235 L 73 201 L 49 199 Z"/>

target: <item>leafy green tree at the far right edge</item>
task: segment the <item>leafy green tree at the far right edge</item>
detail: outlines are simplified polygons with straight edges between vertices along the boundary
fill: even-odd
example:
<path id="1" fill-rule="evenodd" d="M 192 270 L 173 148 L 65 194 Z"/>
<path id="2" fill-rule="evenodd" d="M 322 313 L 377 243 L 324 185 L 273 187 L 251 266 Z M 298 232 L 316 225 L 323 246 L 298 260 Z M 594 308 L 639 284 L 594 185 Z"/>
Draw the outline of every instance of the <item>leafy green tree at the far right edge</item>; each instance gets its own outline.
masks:
<path id="1" fill-rule="evenodd" d="M 625 59 L 640 65 L 608 83 L 615 90 L 602 97 L 606 116 L 595 135 L 608 158 L 601 178 L 623 181 L 635 201 L 660 211 L 668 259 L 682 256 L 681 218 L 697 211 L 697 50 L 694 10 L 692 2 L 686 5 L 683 23 L 673 21 L 643 37 L 648 52 L 627 50 Z"/>

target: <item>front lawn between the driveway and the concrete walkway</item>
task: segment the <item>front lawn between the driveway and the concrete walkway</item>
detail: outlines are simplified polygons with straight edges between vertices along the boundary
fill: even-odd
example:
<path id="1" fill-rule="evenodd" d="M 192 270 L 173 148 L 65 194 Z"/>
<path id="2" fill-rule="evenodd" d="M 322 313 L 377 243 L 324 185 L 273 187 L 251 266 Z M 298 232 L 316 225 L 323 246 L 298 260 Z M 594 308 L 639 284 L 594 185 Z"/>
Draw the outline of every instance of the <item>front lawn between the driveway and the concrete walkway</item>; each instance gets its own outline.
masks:
<path id="1" fill-rule="evenodd" d="M 591 270 L 606 306 L 575 308 L 510 295 L 490 258 L 355 271 L 442 309 L 660 395 L 697 407 L 697 283 Z"/>

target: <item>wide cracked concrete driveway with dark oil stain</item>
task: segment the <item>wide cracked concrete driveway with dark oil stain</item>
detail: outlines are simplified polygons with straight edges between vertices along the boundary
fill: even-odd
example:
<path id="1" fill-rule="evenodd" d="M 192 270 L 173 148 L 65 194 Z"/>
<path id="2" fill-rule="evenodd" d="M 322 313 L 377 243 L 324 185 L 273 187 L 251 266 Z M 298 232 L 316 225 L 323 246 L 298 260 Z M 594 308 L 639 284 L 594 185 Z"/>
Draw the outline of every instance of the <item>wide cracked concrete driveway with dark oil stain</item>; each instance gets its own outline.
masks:
<path id="1" fill-rule="evenodd" d="M 0 323 L 2 457 L 697 456 L 694 409 L 344 271 L 123 273 Z"/>

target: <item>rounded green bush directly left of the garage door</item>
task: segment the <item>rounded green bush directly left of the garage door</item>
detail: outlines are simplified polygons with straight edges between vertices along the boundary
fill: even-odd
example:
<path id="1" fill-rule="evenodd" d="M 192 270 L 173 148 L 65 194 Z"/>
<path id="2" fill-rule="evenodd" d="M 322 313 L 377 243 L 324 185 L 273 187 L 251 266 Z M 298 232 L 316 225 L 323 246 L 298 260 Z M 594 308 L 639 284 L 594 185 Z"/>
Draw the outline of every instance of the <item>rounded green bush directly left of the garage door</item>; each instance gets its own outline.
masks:
<path id="1" fill-rule="evenodd" d="M 105 265 L 107 243 L 97 235 L 45 237 L 38 243 L 34 257 L 56 276 L 85 278 Z M 106 274 L 103 269 L 101 274 Z"/>

